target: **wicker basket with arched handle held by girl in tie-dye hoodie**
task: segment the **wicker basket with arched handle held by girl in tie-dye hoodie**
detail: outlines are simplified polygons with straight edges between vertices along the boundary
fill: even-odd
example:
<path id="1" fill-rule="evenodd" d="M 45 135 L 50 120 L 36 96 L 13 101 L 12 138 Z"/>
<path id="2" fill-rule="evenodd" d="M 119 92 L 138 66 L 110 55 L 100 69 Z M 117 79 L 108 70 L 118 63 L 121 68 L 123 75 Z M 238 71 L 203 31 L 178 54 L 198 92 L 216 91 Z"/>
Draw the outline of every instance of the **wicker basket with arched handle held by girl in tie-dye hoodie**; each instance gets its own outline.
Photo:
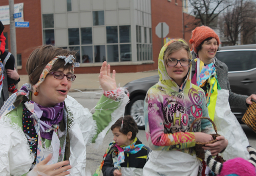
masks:
<path id="1" fill-rule="evenodd" d="M 203 149 L 203 146 L 205 146 L 205 144 L 215 143 L 217 141 L 216 138 L 218 136 L 220 136 L 220 135 L 218 135 L 218 133 L 217 133 L 217 127 L 216 127 L 214 121 L 212 121 L 210 118 L 207 118 L 207 117 L 200 117 L 200 118 L 197 118 L 196 120 L 194 120 L 194 122 L 191 124 L 190 132 L 192 132 L 193 126 L 195 125 L 196 121 L 201 120 L 201 119 L 209 120 L 212 123 L 212 125 L 214 126 L 214 130 L 216 132 L 216 134 L 211 134 L 211 136 L 212 136 L 212 138 L 214 138 L 214 140 L 209 141 L 209 142 L 196 142 L 196 146 L 195 146 L 196 155 L 197 155 L 198 158 L 204 159 L 204 149 Z"/>

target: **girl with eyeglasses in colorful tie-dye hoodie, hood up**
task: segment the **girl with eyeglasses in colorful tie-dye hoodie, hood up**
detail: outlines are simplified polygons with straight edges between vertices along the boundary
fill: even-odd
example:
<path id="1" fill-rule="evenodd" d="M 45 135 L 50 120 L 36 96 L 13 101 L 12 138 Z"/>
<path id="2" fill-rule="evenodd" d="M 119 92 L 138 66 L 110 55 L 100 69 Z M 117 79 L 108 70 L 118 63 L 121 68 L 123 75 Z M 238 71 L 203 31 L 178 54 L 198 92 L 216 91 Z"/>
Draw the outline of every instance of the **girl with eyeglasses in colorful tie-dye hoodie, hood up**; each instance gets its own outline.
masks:
<path id="1" fill-rule="evenodd" d="M 147 142 L 152 152 L 143 175 L 198 175 L 201 161 L 195 153 L 196 142 L 209 142 L 215 134 L 204 91 L 191 83 L 191 53 L 183 39 L 167 42 L 158 58 L 159 82 L 145 98 L 144 115 Z M 189 132 L 193 128 L 193 132 Z M 217 150 L 220 152 L 221 150 Z"/>

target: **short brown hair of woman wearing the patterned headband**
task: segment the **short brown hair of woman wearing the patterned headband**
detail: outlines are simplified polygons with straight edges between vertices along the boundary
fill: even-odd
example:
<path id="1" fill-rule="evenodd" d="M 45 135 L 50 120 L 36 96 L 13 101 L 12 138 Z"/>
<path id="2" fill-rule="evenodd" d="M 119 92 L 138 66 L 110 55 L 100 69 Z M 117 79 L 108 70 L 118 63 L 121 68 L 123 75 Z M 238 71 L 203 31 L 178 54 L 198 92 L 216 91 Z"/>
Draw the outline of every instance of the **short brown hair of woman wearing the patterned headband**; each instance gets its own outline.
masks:
<path id="1" fill-rule="evenodd" d="M 57 48 L 51 45 L 45 45 L 35 49 L 30 54 L 26 64 L 26 71 L 29 75 L 29 83 L 35 85 L 38 82 L 42 71 L 45 69 L 48 62 L 50 62 L 53 58 L 58 55 L 68 56 L 70 54 L 75 57 L 76 52 L 68 49 Z M 57 59 L 50 72 L 57 71 L 60 68 L 64 70 L 72 69 L 72 64 L 64 64 L 65 60 Z"/>

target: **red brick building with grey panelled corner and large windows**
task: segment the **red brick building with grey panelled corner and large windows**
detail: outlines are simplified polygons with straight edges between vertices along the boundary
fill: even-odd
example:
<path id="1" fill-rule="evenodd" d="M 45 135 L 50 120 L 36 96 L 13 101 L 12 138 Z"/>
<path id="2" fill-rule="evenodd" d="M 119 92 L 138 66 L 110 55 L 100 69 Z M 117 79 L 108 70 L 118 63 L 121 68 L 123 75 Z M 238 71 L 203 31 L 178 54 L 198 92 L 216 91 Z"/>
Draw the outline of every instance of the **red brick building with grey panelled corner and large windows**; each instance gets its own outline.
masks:
<path id="1" fill-rule="evenodd" d="M 169 26 L 166 37 L 188 41 L 191 35 L 183 28 L 186 0 L 14 0 L 18 3 L 24 3 L 30 23 L 16 28 L 19 74 L 26 74 L 30 53 L 44 44 L 77 50 L 76 73 L 98 73 L 104 60 L 117 73 L 156 70 L 162 47 L 156 26 Z M 10 25 L 4 34 L 11 51 Z"/>

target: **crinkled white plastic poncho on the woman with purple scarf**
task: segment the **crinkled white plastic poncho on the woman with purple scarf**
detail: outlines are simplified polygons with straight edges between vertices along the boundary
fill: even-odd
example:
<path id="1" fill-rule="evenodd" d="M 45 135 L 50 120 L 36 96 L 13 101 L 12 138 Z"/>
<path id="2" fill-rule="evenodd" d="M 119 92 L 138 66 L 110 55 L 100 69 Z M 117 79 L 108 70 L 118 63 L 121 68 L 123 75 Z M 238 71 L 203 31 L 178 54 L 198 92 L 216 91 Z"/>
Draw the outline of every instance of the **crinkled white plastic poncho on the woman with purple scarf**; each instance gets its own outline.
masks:
<path id="1" fill-rule="evenodd" d="M 113 121 L 124 113 L 124 107 L 128 101 L 129 97 L 124 95 L 119 107 L 111 114 Z M 72 117 L 69 117 L 71 125 L 68 128 L 71 144 L 69 160 L 72 165 L 69 175 L 90 175 L 90 172 L 86 171 L 86 145 L 92 142 L 96 134 L 96 122 L 93 120 L 89 109 L 84 108 L 74 98 L 68 96 L 65 103 L 73 114 Z M 103 131 L 108 131 L 109 128 L 106 128 Z M 100 139 L 103 139 L 103 137 L 104 133 L 101 133 Z M 0 176 L 20 176 L 26 173 L 31 168 L 34 159 L 30 155 L 27 138 L 22 129 L 15 124 L 11 124 L 11 119 L 8 116 L 0 118 L 0 139 Z M 97 138 L 96 144 L 100 144 L 100 142 L 102 141 Z M 37 175 L 36 172 L 34 174 Z"/>

